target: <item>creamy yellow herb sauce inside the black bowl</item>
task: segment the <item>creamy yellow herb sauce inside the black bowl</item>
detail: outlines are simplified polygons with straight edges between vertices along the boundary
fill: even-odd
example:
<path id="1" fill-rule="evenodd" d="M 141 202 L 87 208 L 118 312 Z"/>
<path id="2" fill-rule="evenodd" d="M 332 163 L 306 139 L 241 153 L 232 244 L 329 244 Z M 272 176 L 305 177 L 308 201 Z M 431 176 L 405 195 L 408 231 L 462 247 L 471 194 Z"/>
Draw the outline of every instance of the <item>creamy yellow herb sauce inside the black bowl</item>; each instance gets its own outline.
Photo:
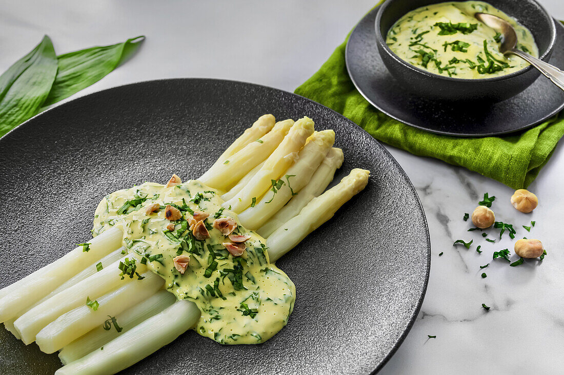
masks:
<path id="1" fill-rule="evenodd" d="M 475 19 L 477 12 L 508 21 L 517 33 L 517 48 L 539 56 L 530 30 L 482 1 L 444 2 L 408 12 L 390 28 L 386 44 L 409 64 L 454 78 L 490 78 L 528 66 L 521 57 L 499 52 L 503 37 Z"/>

